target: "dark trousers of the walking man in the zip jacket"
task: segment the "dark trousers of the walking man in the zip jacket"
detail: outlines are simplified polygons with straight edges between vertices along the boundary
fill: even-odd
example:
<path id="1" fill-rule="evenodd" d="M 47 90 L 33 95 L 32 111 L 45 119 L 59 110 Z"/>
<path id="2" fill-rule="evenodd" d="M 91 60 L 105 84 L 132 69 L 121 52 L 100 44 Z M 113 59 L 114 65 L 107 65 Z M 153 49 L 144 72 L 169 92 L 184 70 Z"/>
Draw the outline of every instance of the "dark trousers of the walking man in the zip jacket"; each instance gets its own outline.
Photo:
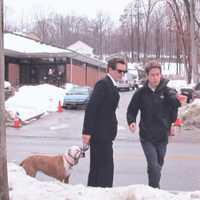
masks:
<path id="1" fill-rule="evenodd" d="M 152 144 L 147 141 L 141 141 L 141 144 L 147 160 L 149 186 L 160 188 L 161 169 L 164 163 L 167 144 Z"/>

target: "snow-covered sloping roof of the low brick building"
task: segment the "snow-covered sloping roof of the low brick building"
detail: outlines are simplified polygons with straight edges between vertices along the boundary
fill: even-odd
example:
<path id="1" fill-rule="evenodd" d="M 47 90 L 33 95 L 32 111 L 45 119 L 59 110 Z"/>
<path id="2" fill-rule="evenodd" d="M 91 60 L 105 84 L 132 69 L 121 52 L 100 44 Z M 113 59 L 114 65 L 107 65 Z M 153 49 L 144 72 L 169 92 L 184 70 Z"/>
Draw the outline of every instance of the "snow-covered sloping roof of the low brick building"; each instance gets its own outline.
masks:
<path id="1" fill-rule="evenodd" d="M 41 43 L 37 40 L 15 34 L 4 33 L 4 54 L 23 58 L 72 58 L 80 62 L 105 68 L 106 63 L 70 49 Z"/>

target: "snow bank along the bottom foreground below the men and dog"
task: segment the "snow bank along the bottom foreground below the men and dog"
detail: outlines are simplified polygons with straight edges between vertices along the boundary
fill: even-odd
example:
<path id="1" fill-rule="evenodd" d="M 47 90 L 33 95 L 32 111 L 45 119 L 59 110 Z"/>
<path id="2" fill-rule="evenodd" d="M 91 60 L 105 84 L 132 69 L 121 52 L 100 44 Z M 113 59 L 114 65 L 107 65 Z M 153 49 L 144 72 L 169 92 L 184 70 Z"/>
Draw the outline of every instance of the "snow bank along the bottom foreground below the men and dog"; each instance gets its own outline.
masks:
<path id="1" fill-rule="evenodd" d="M 146 185 L 93 188 L 38 181 L 14 163 L 8 163 L 8 184 L 10 200 L 200 200 L 200 191 L 170 193 Z"/>

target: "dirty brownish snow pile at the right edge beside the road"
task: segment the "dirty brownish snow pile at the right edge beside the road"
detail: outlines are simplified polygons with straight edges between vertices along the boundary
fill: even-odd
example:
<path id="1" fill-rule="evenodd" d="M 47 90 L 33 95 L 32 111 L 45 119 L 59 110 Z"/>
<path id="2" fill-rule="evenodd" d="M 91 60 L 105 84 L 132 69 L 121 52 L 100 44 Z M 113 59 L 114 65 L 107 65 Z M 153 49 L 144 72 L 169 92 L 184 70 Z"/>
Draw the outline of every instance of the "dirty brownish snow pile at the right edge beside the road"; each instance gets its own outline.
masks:
<path id="1" fill-rule="evenodd" d="M 185 125 L 200 127 L 200 99 L 179 108 L 179 117 Z"/>

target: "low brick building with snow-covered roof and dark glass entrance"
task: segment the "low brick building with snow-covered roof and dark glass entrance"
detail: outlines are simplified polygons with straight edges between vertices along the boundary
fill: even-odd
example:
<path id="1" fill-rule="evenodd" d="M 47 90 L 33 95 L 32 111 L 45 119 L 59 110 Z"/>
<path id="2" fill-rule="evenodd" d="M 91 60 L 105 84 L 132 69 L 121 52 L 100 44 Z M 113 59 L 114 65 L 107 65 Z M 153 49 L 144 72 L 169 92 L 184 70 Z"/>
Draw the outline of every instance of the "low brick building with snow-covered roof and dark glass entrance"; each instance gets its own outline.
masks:
<path id="1" fill-rule="evenodd" d="M 4 33 L 5 80 L 13 86 L 66 82 L 93 86 L 105 76 L 106 63 L 70 49 Z"/>

